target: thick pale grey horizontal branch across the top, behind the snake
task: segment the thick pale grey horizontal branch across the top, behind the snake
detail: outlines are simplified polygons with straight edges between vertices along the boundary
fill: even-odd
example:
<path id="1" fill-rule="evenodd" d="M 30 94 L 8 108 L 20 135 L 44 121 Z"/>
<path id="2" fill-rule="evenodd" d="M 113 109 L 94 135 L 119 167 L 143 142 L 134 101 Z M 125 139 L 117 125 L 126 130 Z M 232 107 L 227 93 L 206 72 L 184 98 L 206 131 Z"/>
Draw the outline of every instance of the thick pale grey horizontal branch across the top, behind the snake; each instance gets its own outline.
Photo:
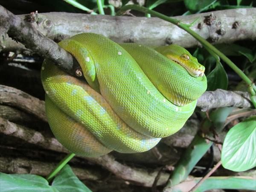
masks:
<path id="1" fill-rule="evenodd" d="M 0 12 L 3 12 L 2 10 L 3 8 Z M 256 38 L 255 12 L 256 8 L 229 9 L 175 18 L 183 23 L 192 23 L 198 19 L 192 30 L 211 42 L 231 43 Z M 207 16 L 211 22 L 208 22 Z M 3 17 L 3 20 L 8 18 L 8 15 L 1 13 L 0 17 Z M 22 20 L 25 18 L 24 15 L 19 17 Z M 58 41 L 81 32 L 93 32 L 105 35 L 118 43 L 136 42 L 153 47 L 171 43 L 183 47 L 198 45 L 198 41 L 182 29 L 155 17 L 113 17 L 51 12 L 40 13 L 38 21 L 40 22 L 33 23 L 35 29 Z M 5 42 L 6 48 L 10 47 L 10 42 L 10 39 Z"/>

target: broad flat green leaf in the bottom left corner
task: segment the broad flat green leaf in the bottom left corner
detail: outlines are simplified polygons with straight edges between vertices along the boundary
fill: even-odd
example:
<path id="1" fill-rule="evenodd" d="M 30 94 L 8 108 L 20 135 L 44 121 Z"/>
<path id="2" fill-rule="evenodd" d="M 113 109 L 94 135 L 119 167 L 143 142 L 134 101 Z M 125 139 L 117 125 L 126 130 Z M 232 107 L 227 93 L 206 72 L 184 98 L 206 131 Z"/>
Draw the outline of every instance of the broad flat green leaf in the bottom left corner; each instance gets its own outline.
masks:
<path id="1" fill-rule="evenodd" d="M 0 192 L 58 192 L 38 175 L 0 173 Z"/>

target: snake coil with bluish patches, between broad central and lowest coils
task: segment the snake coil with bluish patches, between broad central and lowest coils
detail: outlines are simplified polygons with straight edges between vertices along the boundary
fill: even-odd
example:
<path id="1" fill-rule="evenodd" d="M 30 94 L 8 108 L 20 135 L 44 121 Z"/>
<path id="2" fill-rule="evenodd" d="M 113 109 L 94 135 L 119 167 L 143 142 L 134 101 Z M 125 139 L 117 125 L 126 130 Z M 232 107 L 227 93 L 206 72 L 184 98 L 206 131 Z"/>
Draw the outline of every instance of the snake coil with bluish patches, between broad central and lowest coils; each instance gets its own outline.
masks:
<path id="1" fill-rule="evenodd" d="M 62 113 L 87 128 L 103 145 L 119 152 L 134 153 L 147 151 L 160 141 L 159 138 L 146 137 L 129 128 L 105 99 L 86 83 L 67 75 L 48 60 L 44 61 L 42 67 L 44 89 L 52 102 Z M 50 110 L 48 108 L 47 112 Z M 51 114 L 56 122 L 67 121 L 67 118 L 62 119 L 56 112 Z M 55 131 L 57 127 L 53 125 L 51 128 Z"/>

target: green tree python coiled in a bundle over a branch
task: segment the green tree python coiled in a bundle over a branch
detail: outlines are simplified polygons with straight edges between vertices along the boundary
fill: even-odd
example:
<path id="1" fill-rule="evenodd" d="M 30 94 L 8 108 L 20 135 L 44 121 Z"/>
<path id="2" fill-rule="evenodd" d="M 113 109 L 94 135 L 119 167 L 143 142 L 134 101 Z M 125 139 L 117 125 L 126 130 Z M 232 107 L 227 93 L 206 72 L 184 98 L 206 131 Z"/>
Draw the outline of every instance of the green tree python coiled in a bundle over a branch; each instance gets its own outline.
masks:
<path id="1" fill-rule="evenodd" d="M 85 81 L 45 60 L 41 80 L 48 122 L 75 154 L 143 152 L 183 127 L 207 88 L 204 66 L 177 45 L 151 49 L 82 33 L 59 46 Z"/>

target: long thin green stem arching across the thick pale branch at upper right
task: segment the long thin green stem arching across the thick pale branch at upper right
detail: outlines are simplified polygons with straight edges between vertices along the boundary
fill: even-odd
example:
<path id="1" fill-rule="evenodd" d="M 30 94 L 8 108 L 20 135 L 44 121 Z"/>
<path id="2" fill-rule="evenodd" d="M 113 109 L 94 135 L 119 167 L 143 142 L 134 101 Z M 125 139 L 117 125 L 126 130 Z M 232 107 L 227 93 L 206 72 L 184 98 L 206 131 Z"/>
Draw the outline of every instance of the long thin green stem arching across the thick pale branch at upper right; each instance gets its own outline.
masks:
<path id="1" fill-rule="evenodd" d="M 168 17 L 166 15 L 163 15 L 161 13 L 155 12 L 153 10 L 147 9 L 142 6 L 137 5 L 127 5 L 123 6 L 116 15 L 120 15 L 123 12 L 125 12 L 128 9 L 134 9 L 140 12 L 148 13 L 151 15 L 154 15 L 155 17 L 159 17 L 160 19 L 166 20 L 170 23 L 173 23 L 180 27 L 181 29 L 188 32 L 190 35 L 192 35 L 196 40 L 198 40 L 204 47 L 207 47 L 208 49 L 212 50 L 216 55 L 218 55 L 225 63 L 227 63 L 240 77 L 243 79 L 246 84 L 248 84 L 250 89 L 251 98 L 255 98 L 256 94 L 256 86 L 255 84 L 229 59 L 224 55 L 222 52 L 220 52 L 218 49 L 216 49 L 212 44 L 210 44 L 208 41 L 206 41 L 204 38 L 202 38 L 200 35 L 198 35 L 196 32 L 194 32 L 192 29 L 189 28 L 189 25 L 180 22 L 180 20 L 174 19 L 172 17 Z M 253 97 L 254 96 L 254 97 Z M 256 108 L 256 99 L 251 99 L 251 102 L 253 103 L 254 107 Z"/>

